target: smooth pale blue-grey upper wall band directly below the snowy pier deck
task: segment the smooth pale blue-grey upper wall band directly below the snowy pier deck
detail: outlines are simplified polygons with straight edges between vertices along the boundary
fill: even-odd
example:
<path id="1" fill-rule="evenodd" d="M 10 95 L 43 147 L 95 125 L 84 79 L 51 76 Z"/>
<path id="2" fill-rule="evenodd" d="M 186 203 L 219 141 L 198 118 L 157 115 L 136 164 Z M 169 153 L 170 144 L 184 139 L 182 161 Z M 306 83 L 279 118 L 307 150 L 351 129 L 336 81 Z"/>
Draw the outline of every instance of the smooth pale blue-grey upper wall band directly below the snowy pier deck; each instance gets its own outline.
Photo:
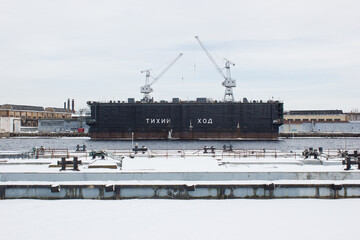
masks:
<path id="1" fill-rule="evenodd" d="M 243 181 L 360 180 L 360 171 L 336 172 L 0 172 L 8 181 Z"/>

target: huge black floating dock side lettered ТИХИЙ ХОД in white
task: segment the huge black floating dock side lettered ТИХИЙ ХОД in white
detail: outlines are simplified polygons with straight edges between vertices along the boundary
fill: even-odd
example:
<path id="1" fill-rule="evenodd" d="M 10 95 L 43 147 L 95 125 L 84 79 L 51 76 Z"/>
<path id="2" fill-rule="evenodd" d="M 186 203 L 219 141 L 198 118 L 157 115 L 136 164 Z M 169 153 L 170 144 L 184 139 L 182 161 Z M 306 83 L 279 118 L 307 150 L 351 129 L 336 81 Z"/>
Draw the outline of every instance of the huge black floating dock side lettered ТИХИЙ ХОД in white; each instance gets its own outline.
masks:
<path id="1" fill-rule="evenodd" d="M 277 139 L 283 104 L 90 103 L 92 139 Z"/>

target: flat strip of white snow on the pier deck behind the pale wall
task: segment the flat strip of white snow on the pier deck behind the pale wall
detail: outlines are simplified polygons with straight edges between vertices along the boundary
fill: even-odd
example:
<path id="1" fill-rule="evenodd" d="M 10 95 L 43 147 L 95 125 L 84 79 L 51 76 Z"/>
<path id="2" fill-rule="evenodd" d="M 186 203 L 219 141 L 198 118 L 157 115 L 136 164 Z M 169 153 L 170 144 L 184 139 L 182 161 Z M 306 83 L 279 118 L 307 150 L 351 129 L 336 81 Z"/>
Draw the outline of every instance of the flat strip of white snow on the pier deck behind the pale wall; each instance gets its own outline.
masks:
<path id="1" fill-rule="evenodd" d="M 71 159 L 71 158 L 70 158 Z M 70 160 L 69 159 L 69 160 Z M 2 159 L 0 172 L 59 172 L 60 159 Z M 125 157 L 120 159 L 106 157 L 91 159 L 80 157 L 80 172 L 332 172 L 344 171 L 341 159 L 315 160 L 285 157 L 231 158 L 218 159 L 211 156 L 183 157 Z M 56 166 L 57 165 L 57 166 Z M 108 168 L 113 166 L 114 168 Z M 97 168 L 92 168 L 97 167 Z M 353 171 L 358 171 L 353 167 Z"/>

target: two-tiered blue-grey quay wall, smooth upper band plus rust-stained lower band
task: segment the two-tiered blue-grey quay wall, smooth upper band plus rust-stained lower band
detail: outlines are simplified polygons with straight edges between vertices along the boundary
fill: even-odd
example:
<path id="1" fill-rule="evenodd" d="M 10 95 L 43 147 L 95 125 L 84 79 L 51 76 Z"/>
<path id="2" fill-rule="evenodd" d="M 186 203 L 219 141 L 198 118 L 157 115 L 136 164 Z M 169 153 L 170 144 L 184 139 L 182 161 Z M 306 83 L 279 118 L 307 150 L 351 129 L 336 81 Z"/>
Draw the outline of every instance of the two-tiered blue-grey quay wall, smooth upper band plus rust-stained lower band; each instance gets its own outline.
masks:
<path id="1" fill-rule="evenodd" d="M 0 199 L 359 198 L 360 171 L 0 173 Z"/>

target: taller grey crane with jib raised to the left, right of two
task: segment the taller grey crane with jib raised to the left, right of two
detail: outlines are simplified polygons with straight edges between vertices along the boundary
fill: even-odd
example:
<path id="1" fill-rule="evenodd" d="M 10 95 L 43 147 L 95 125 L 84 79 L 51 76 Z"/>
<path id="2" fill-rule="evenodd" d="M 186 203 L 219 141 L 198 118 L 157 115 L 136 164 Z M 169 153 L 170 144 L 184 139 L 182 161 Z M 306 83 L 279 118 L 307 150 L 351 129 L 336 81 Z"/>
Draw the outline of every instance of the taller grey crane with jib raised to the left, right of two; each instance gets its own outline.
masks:
<path id="1" fill-rule="evenodd" d="M 199 42 L 201 48 L 204 50 L 206 55 L 209 57 L 212 64 L 215 66 L 216 70 L 220 73 L 220 75 L 224 78 L 224 81 L 222 82 L 222 85 L 225 87 L 225 95 L 224 95 L 224 101 L 225 102 L 233 102 L 234 101 L 234 94 L 233 94 L 233 87 L 236 87 L 236 80 L 231 78 L 230 73 L 230 66 L 235 66 L 235 63 L 231 62 L 230 60 L 224 58 L 225 60 L 225 69 L 226 74 L 224 74 L 223 69 L 221 69 L 215 60 L 212 58 L 208 50 L 206 50 L 204 44 L 200 41 L 199 36 L 195 36 L 196 40 Z"/>

